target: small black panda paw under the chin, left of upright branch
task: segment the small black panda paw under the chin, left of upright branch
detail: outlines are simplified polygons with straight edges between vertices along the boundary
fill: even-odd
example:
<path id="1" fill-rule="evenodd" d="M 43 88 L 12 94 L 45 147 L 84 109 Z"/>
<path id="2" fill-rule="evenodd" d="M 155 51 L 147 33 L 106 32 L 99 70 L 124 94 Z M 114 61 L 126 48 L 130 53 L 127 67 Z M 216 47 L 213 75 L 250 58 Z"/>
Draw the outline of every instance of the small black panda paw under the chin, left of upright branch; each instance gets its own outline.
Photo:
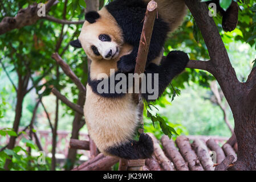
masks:
<path id="1" fill-rule="evenodd" d="M 131 59 L 129 56 L 123 56 L 117 61 L 117 68 L 120 72 L 128 73 L 132 72 L 135 69 L 136 62 Z"/>

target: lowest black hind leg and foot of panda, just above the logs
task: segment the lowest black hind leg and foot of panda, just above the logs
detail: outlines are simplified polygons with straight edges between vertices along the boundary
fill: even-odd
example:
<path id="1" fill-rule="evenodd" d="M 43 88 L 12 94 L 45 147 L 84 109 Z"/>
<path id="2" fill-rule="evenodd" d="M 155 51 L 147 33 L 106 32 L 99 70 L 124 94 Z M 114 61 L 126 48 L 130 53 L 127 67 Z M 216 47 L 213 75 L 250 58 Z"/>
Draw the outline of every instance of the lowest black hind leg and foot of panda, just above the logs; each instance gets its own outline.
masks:
<path id="1" fill-rule="evenodd" d="M 107 153 L 123 159 L 151 158 L 154 151 L 153 140 L 148 134 L 140 134 L 139 141 L 131 140 L 120 146 L 110 147 Z"/>

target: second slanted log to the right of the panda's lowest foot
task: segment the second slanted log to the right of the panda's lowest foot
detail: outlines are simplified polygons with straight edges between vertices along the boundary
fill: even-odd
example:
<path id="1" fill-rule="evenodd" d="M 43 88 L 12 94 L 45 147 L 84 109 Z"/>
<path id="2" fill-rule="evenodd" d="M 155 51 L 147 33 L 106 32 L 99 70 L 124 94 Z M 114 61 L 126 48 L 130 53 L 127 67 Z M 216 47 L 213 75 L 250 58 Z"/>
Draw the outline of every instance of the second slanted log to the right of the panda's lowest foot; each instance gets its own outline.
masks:
<path id="1" fill-rule="evenodd" d="M 166 156 L 168 156 L 168 158 L 173 162 L 177 171 L 189 171 L 188 165 L 182 158 L 180 152 L 178 152 L 173 140 L 164 135 L 161 138 L 161 142 Z"/>

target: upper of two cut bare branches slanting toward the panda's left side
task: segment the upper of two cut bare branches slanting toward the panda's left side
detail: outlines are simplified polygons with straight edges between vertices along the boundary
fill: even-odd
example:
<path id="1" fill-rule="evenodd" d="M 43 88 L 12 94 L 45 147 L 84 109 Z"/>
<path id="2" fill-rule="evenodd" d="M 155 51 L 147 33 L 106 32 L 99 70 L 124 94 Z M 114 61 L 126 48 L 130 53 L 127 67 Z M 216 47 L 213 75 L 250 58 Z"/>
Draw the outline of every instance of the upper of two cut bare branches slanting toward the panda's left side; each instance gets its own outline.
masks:
<path id="1" fill-rule="evenodd" d="M 78 86 L 78 89 L 80 92 L 86 96 L 86 88 L 82 84 L 82 82 L 78 79 L 78 77 L 75 75 L 75 73 L 71 70 L 70 66 L 63 61 L 63 59 L 59 56 L 58 53 L 53 53 L 51 56 L 53 59 L 55 59 L 56 63 L 60 65 L 62 68 L 63 72 L 70 77 L 70 79 Z"/>

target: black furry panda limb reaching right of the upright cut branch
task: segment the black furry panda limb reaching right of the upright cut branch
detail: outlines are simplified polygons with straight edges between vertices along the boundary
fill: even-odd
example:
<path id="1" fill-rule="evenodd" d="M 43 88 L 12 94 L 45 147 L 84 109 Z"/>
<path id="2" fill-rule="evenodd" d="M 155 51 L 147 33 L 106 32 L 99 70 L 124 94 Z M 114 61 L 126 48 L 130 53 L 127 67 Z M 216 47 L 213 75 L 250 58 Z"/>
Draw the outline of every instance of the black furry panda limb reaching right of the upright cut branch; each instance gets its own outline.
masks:
<path id="1" fill-rule="evenodd" d="M 158 88 L 158 96 L 150 98 L 154 95 L 154 93 L 142 93 L 143 98 L 148 101 L 155 101 L 157 98 L 161 96 L 162 93 L 164 93 L 164 90 L 166 87 L 170 84 L 172 79 L 180 74 L 182 71 L 184 71 L 186 65 L 188 64 L 189 57 L 185 52 L 182 51 L 172 51 L 169 52 L 168 56 L 162 58 L 161 65 L 156 65 L 154 63 L 151 63 L 148 65 L 147 69 L 145 70 L 146 77 L 148 79 L 148 74 L 151 73 L 152 77 L 151 80 L 151 87 L 153 90 L 154 88 L 154 75 L 155 73 L 158 73 L 159 75 L 159 84 L 157 85 Z M 148 82 L 148 80 L 147 80 Z M 148 85 L 147 85 L 148 89 Z M 154 91 L 155 92 L 155 91 Z"/>

